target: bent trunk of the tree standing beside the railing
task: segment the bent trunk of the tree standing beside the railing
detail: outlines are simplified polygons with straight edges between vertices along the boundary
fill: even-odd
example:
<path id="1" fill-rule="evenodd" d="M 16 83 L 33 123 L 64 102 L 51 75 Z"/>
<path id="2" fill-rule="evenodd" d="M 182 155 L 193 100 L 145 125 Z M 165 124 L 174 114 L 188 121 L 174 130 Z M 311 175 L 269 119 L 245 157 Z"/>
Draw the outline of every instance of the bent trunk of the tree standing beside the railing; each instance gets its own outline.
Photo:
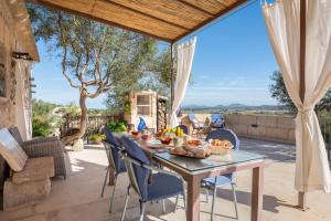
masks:
<path id="1" fill-rule="evenodd" d="M 79 124 L 79 130 L 74 134 L 66 137 L 63 137 L 63 141 L 65 145 L 73 145 L 78 139 L 81 139 L 85 133 L 87 127 L 87 107 L 86 107 L 86 88 L 81 90 L 81 96 L 79 96 L 79 107 L 81 107 L 81 124 Z"/>

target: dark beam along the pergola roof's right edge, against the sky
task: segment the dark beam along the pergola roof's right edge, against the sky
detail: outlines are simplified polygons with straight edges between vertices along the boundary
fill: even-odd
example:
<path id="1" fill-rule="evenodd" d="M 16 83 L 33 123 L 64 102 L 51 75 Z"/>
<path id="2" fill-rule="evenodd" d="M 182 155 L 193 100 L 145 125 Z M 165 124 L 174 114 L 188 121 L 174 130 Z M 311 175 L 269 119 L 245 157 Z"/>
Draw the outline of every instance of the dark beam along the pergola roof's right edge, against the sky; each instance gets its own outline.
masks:
<path id="1" fill-rule="evenodd" d="M 226 9 L 220 11 L 218 13 L 216 13 L 213 18 L 205 20 L 204 22 L 201 22 L 200 24 L 197 24 L 196 27 L 194 27 L 193 29 L 191 29 L 188 32 L 184 32 L 183 34 L 179 35 L 178 38 L 175 38 L 172 43 L 180 41 L 182 38 L 188 36 L 190 34 L 192 34 L 193 32 L 195 32 L 196 30 L 203 28 L 204 25 L 214 22 L 215 20 L 220 19 L 220 17 L 223 17 L 224 14 L 228 13 L 229 11 L 234 10 L 235 8 L 239 7 L 241 4 L 247 2 L 248 0 L 238 0 L 235 3 L 233 3 L 231 7 L 227 7 Z"/>

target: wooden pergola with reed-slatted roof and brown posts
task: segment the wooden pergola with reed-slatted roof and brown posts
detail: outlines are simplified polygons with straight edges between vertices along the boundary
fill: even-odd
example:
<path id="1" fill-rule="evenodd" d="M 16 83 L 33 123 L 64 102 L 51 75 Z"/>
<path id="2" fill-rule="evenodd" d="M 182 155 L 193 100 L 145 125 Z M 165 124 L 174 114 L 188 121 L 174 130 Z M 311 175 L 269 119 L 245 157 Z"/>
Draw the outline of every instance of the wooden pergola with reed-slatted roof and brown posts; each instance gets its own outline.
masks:
<path id="1" fill-rule="evenodd" d="M 248 0 L 28 0 L 169 42 L 216 21 Z M 301 1 L 300 97 L 305 94 L 306 1 Z M 172 74 L 173 75 L 173 74 Z M 173 94 L 173 93 L 172 93 Z M 305 192 L 299 206 L 306 208 Z"/>

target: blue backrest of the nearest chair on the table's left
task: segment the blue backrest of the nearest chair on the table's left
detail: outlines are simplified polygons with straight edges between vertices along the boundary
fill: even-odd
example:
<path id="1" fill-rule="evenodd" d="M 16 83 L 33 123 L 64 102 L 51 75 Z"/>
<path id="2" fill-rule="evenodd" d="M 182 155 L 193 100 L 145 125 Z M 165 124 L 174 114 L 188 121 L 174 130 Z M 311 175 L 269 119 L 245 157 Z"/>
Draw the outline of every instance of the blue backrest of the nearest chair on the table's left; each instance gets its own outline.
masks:
<path id="1" fill-rule="evenodd" d="M 122 140 L 124 148 L 130 158 L 136 159 L 145 165 L 149 165 L 149 166 L 151 165 L 151 161 L 148 159 L 146 154 L 135 141 L 130 140 L 127 137 L 122 137 L 121 140 Z M 135 164 L 132 165 L 132 168 L 134 168 L 135 177 L 138 182 L 138 188 L 141 198 L 146 200 L 148 198 L 147 187 L 148 187 L 148 178 L 150 175 L 150 170 Z"/>

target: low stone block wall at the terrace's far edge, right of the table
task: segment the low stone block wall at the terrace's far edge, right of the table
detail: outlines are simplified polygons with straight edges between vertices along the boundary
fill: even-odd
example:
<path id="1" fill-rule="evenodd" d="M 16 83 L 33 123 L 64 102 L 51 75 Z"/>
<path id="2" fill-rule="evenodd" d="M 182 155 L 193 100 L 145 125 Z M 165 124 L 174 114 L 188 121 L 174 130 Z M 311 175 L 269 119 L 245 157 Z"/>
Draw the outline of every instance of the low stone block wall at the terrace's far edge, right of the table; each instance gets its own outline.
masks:
<path id="1" fill-rule="evenodd" d="M 211 122 L 211 114 L 195 114 L 195 117 L 206 125 Z M 192 131 L 186 114 L 181 120 Z M 225 125 L 242 137 L 296 143 L 295 119 L 290 116 L 229 114 L 225 115 Z"/>

